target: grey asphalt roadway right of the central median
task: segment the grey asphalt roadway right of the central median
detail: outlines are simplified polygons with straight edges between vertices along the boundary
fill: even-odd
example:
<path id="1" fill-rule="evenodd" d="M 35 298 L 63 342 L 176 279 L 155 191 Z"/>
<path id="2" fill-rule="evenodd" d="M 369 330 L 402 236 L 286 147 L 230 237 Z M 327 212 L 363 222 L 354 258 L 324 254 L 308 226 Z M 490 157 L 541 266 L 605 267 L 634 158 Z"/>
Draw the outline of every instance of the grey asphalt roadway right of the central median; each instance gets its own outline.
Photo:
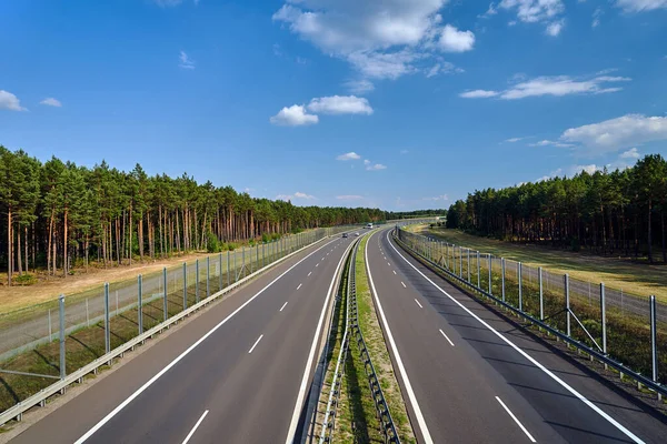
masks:
<path id="1" fill-rule="evenodd" d="M 388 232 L 369 240 L 368 271 L 419 442 L 665 443 L 664 417 L 430 272 Z"/>

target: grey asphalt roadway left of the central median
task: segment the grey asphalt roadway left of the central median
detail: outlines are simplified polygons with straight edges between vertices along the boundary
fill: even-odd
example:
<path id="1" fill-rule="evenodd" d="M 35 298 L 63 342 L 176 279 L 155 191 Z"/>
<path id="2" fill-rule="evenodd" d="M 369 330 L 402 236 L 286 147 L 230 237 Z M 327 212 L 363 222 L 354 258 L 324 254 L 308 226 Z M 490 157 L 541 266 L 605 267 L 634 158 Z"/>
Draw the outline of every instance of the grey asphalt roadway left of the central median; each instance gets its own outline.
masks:
<path id="1" fill-rule="evenodd" d="M 12 443 L 286 442 L 351 240 L 318 243 L 276 266 Z"/>

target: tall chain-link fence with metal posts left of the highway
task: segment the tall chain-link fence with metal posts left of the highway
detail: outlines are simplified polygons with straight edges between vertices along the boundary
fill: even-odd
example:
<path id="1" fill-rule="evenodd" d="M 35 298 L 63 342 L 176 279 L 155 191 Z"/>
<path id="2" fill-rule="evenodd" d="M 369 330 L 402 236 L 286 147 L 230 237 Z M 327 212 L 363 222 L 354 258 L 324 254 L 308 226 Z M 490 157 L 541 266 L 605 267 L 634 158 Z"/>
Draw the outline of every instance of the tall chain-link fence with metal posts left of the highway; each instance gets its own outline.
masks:
<path id="1" fill-rule="evenodd" d="M 280 258 L 350 229 L 309 230 L 0 314 L 0 412 Z"/>

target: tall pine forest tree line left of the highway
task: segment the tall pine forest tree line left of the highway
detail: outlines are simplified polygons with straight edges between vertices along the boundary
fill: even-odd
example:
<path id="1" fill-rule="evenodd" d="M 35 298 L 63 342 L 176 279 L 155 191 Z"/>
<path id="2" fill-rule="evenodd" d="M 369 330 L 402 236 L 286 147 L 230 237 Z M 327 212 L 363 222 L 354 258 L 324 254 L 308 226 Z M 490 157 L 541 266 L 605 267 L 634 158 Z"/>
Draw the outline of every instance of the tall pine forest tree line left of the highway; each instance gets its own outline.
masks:
<path id="1" fill-rule="evenodd" d="M 43 268 L 67 276 L 72 264 L 108 266 L 305 229 L 386 219 L 378 209 L 295 206 L 216 188 L 183 173 L 148 175 L 141 165 L 92 169 L 53 157 L 40 162 L 0 145 L 0 266 Z"/>

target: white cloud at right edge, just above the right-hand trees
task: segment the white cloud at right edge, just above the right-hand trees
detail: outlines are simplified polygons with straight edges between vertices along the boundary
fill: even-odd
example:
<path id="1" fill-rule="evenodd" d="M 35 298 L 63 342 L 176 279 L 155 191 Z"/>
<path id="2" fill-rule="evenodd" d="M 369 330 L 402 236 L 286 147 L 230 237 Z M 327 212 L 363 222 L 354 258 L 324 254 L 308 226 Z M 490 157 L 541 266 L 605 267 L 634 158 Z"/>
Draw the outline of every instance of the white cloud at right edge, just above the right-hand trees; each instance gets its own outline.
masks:
<path id="1" fill-rule="evenodd" d="M 615 152 L 641 143 L 667 140 L 667 117 L 627 114 L 566 130 L 560 139 L 593 153 Z"/>

